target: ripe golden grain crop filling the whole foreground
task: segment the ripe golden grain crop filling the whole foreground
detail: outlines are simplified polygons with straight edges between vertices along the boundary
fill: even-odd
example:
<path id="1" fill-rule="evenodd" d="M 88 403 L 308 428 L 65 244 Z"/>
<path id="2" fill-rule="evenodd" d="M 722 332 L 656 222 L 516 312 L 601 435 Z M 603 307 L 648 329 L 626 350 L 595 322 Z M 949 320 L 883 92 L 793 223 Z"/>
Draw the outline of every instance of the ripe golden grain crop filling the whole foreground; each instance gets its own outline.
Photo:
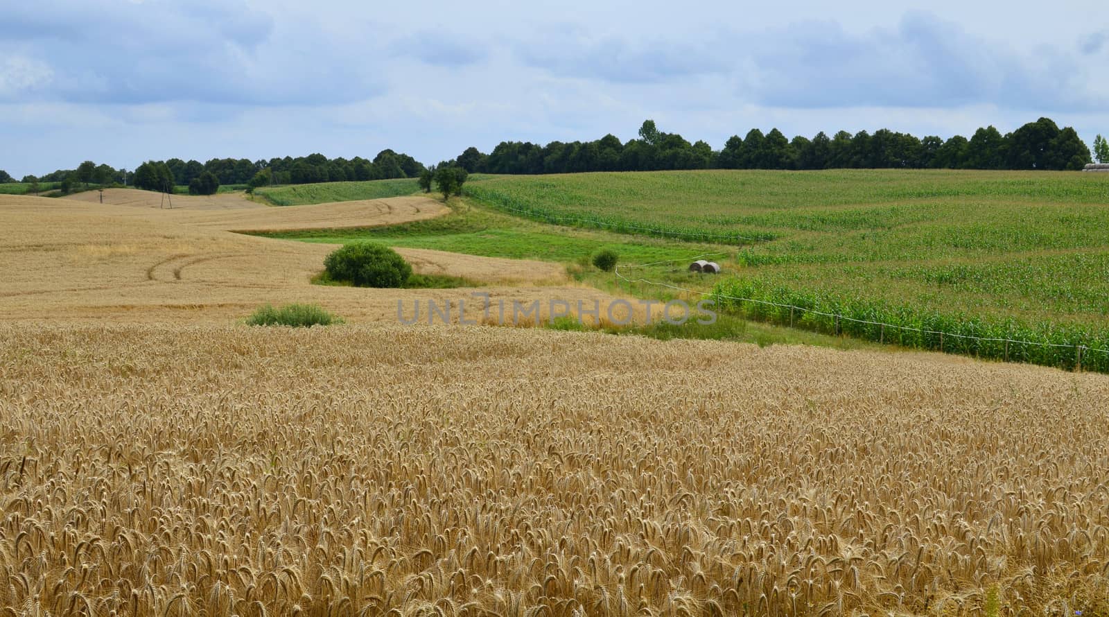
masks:
<path id="1" fill-rule="evenodd" d="M 0 370 L 2 615 L 1109 610 L 1101 375 L 365 325 Z"/>

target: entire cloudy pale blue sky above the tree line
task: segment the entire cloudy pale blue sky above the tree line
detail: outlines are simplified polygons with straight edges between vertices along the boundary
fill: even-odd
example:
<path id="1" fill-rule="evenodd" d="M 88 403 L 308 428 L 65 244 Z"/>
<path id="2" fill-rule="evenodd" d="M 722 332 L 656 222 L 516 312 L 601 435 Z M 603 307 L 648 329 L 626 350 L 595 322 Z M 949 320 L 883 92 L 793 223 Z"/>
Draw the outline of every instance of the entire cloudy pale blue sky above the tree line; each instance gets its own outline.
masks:
<path id="1" fill-rule="evenodd" d="M 0 16 L 0 169 L 660 130 L 720 149 L 1040 115 L 1109 133 L 1102 2 L 35 0 Z"/>

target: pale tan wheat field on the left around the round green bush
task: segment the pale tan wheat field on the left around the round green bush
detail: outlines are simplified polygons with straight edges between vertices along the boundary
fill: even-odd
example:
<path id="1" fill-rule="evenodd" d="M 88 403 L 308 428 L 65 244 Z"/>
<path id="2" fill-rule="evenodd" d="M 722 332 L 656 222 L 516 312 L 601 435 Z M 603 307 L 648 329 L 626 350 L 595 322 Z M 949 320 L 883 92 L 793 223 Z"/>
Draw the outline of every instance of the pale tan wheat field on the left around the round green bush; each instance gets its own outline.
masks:
<path id="1" fill-rule="evenodd" d="M 128 196 L 142 191 L 123 191 Z M 105 194 L 109 191 L 105 191 Z M 94 193 L 93 193 L 94 194 Z M 155 193 L 149 193 L 155 200 Z M 222 195 L 221 195 L 222 198 Z M 129 198 L 130 199 L 130 198 Z M 200 198 L 197 198 L 200 199 Z M 105 198 L 106 200 L 106 198 Z M 242 200 L 240 200 L 242 201 Z M 265 303 L 307 302 L 353 321 L 396 321 L 397 302 L 475 307 L 474 290 L 359 290 L 313 285 L 334 245 L 254 237 L 225 231 L 240 224 L 396 223 L 435 215 L 442 206 L 411 198 L 291 208 L 160 210 L 150 203 L 87 203 L 0 195 L 0 318 L 19 321 L 215 322 L 244 317 Z M 391 204 L 391 205 L 390 205 Z M 438 209 L 438 210 L 437 210 Z M 418 211 L 417 211 L 418 210 Z M 284 219 L 295 214 L 296 222 Z M 374 213 L 378 213 L 377 216 Z M 384 212 L 384 214 L 383 214 Z M 250 214 L 251 222 L 241 216 Z M 317 219 L 313 219 L 317 216 Z M 406 219 L 407 218 L 407 219 Z M 492 302 L 549 307 L 556 299 L 607 305 L 613 300 L 574 286 L 547 262 L 400 249 L 415 270 L 485 283 Z M 468 308 L 470 310 L 470 308 Z M 470 318 L 475 318 L 471 315 Z"/>

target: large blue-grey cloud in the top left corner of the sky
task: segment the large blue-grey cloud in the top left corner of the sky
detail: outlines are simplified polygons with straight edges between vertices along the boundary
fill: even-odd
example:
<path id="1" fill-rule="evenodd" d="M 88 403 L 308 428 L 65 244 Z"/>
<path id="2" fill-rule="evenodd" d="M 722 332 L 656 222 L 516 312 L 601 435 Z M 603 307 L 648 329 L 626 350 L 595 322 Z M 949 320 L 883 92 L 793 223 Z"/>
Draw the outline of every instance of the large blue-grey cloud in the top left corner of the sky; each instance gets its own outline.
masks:
<path id="1" fill-rule="evenodd" d="M 44 6 L 43 6 L 44 4 Z M 312 22 L 276 22 L 243 0 L 74 0 L 18 4 L 0 21 L 0 57 L 51 68 L 45 100 L 93 104 L 337 103 L 381 90 L 358 41 Z"/>

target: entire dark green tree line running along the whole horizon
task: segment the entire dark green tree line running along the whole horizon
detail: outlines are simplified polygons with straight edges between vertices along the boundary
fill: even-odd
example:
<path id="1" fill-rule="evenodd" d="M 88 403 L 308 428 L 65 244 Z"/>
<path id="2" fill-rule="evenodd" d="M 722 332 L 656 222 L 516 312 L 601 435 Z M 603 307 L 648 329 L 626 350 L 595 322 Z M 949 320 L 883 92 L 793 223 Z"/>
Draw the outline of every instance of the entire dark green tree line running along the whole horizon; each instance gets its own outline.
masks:
<path id="1" fill-rule="evenodd" d="M 1109 163 L 1109 141 L 1093 140 L 1093 158 Z M 468 173 L 573 173 L 587 171 L 657 171 L 696 169 L 820 170 L 866 169 L 981 169 L 981 170 L 1080 170 L 1091 161 L 1090 149 L 1070 127 L 1060 129 L 1051 119 L 1040 118 L 1001 134 L 994 127 L 975 131 L 970 139 L 936 135 L 918 139 L 908 133 L 881 129 L 873 134 L 824 132 L 812 139 L 797 135 L 787 140 L 777 129 L 763 134 L 752 129 L 745 136 L 733 135 L 721 150 L 704 141 L 690 143 L 680 134 L 664 133 L 648 120 L 639 139 L 627 143 L 612 134 L 590 142 L 552 141 L 547 145 L 503 141 L 489 154 L 468 148 L 457 159 L 433 165 L 431 170 L 461 168 Z M 309 184 L 420 178 L 428 172 L 408 154 L 383 150 L 374 160 L 328 159 L 323 154 L 285 156 L 258 161 L 212 159 L 205 163 L 170 159 L 147 161 L 133 173 L 106 164 L 85 161 L 75 170 L 58 170 L 41 178 L 23 176 L 22 182 L 61 183 L 62 192 L 77 184 L 133 184 L 154 191 L 187 185 L 190 192 L 207 194 L 221 184 L 257 188 L 269 184 Z M 431 174 L 434 175 L 434 173 Z M 460 176 L 461 178 L 461 176 Z M 436 178 L 436 183 L 438 183 Z M 450 178 L 442 176 L 446 185 Z M 465 181 L 465 179 L 462 179 Z M 0 183 L 16 182 L 0 170 Z M 459 185 L 461 182 L 458 183 Z M 430 180 L 428 180 L 430 186 Z M 428 189 L 429 190 L 429 189 Z"/>

